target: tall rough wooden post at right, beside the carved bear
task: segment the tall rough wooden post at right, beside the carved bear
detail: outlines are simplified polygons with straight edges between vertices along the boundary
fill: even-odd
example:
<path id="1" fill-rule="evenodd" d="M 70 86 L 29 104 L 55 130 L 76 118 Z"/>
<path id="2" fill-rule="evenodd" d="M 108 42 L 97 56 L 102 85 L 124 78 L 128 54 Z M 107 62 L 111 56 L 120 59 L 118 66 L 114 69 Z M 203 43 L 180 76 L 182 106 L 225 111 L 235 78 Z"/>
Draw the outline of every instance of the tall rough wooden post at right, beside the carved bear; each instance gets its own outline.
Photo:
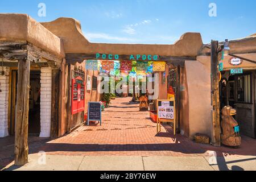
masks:
<path id="1" fill-rule="evenodd" d="M 214 146 L 221 146 L 221 128 L 220 128 L 220 90 L 219 90 L 219 71 L 218 71 L 218 42 L 211 43 L 211 94 L 213 106 L 213 139 Z"/>

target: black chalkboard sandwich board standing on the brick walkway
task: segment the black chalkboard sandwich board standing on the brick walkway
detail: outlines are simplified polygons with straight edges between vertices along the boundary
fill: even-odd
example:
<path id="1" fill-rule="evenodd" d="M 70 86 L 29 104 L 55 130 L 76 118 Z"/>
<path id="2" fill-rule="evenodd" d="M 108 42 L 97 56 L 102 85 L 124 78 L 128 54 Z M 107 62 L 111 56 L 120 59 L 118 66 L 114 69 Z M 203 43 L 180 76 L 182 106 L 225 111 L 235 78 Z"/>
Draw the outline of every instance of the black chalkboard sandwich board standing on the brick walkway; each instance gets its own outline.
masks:
<path id="1" fill-rule="evenodd" d="M 101 104 L 100 102 L 88 102 L 88 125 L 90 121 L 100 121 L 101 124 Z"/>

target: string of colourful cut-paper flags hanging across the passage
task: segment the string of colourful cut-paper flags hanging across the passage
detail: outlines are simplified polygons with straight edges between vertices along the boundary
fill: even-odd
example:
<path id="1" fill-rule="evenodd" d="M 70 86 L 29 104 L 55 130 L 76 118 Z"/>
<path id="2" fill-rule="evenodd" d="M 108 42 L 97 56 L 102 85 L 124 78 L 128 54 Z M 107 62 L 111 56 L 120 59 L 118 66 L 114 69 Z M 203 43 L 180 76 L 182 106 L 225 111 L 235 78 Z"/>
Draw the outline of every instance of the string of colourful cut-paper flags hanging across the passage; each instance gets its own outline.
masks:
<path id="1" fill-rule="evenodd" d="M 131 77 L 143 76 L 153 72 L 166 71 L 164 61 L 105 61 L 86 60 L 86 70 L 100 71 L 114 76 L 129 75 Z"/>

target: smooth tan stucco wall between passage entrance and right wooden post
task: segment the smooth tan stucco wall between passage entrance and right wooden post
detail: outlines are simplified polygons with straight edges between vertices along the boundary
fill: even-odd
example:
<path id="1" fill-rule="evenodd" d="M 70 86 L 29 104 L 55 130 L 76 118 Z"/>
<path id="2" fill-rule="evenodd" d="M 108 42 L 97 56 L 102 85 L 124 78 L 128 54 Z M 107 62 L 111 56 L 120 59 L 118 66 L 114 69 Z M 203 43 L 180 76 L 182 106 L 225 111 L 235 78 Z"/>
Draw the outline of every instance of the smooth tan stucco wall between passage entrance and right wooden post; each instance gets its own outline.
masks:
<path id="1" fill-rule="evenodd" d="M 210 105 L 210 61 L 198 56 L 197 61 L 185 61 L 189 99 L 189 138 L 196 133 L 212 136 Z"/>

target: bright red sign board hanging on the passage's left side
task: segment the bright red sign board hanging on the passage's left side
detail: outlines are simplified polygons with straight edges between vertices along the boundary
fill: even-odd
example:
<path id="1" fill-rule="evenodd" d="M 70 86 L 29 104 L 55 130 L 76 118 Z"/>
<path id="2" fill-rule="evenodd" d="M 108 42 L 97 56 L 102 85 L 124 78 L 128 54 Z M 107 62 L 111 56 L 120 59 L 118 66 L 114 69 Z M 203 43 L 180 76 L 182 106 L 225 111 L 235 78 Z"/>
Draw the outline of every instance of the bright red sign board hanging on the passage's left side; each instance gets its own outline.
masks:
<path id="1" fill-rule="evenodd" d="M 80 78 L 72 79 L 72 115 L 84 111 L 85 84 Z"/>

